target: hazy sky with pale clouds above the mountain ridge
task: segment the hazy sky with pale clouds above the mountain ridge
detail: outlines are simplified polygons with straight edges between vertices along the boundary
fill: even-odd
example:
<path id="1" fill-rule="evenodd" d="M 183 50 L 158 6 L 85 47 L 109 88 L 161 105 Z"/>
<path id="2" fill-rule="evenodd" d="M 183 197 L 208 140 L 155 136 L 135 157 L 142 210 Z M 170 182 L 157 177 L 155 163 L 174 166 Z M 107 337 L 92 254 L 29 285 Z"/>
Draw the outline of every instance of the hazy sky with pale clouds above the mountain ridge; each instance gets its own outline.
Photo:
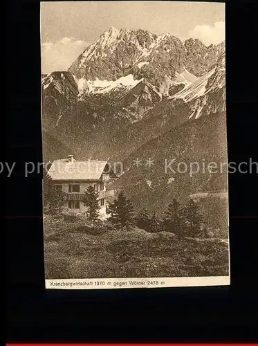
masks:
<path id="1" fill-rule="evenodd" d="M 66 70 L 111 26 L 171 33 L 208 44 L 225 39 L 225 5 L 177 1 L 43 2 L 42 73 Z"/>

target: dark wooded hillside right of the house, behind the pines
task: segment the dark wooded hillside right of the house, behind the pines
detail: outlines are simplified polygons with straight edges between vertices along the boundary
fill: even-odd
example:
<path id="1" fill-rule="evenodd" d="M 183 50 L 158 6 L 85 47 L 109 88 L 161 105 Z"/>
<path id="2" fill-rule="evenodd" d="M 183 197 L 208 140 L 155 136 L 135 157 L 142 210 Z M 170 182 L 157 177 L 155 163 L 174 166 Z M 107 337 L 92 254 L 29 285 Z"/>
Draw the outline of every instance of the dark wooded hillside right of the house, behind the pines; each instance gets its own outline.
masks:
<path id="1" fill-rule="evenodd" d="M 136 149 L 123 162 L 124 174 L 113 188 L 124 190 L 136 210 L 149 208 L 158 215 L 175 197 L 185 203 L 190 195 L 206 192 L 209 198 L 202 200 L 203 209 L 206 214 L 216 210 L 208 219 L 220 228 L 227 224 L 228 210 L 227 195 L 221 194 L 227 190 L 226 143 L 225 113 L 185 122 Z M 141 160 L 138 167 L 137 158 Z M 211 162 L 216 163 L 217 172 L 209 171 Z"/>

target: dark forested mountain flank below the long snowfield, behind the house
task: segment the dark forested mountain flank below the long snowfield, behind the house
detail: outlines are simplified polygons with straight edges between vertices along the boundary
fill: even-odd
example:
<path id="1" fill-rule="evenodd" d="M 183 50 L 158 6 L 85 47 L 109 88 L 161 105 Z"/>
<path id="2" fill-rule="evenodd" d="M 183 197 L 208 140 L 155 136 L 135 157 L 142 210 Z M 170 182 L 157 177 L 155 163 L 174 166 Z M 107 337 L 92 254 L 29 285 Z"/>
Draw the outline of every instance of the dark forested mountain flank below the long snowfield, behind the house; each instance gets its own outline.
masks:
<path id="1" fill-rule="evenodd" d="M 122 134 L 122 129 L 143 118 L 160 102 L 154 86 L 144 80 L 134 87 L 119 86 L 107 93 L 89 93 L 86 98 L 80 95 L 76 102 L 66 94 L 51 98 L 49 87 L 43 90 L 44 131 L 71 147 L 80 158 L 104 159 L 113 154 L 109 149 L 111 138 Z M 50 93 L 53 89 L 51 86 Z"/>

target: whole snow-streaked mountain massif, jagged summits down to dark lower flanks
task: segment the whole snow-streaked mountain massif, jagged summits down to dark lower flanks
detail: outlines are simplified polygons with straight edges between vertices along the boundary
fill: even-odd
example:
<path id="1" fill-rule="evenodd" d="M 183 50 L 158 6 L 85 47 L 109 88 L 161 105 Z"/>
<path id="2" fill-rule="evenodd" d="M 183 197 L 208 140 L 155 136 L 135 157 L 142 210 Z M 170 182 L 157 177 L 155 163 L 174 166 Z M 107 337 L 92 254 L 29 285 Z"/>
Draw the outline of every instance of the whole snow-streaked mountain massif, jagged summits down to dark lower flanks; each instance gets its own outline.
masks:
<path id="1" fill-rule="evenodd" d="M 216 68 L 223 44 L 199 44 L 202 58 L 194 60 L 191 49 L 196 44 L 199 40 L 183 44 L 169 34 L 111 28 L 68 71 L 43 76 L 44 131 L 82 158 L 125 158 L 191 115 L 196 118 L 224 109 L 225 86 Z M 197 94 L 190 102 L 179 97 L 198 84 L 197 75 L 202 73 L 209 93 Z"/>

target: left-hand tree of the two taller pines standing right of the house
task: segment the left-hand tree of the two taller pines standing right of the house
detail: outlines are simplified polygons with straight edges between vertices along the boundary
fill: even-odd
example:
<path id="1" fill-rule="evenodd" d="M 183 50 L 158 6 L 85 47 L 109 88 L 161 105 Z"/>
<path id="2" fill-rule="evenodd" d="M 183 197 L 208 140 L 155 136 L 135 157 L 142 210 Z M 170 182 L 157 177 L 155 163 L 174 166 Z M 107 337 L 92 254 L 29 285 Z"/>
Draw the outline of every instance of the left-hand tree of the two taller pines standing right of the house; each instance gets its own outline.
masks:
<path id="1" fill-rule="evenodd" d="M 178 199 L 169 203 L 163 219 L 163 227 L 167 232 L 182 235 L 184 230 L 183 209 Z"/>

